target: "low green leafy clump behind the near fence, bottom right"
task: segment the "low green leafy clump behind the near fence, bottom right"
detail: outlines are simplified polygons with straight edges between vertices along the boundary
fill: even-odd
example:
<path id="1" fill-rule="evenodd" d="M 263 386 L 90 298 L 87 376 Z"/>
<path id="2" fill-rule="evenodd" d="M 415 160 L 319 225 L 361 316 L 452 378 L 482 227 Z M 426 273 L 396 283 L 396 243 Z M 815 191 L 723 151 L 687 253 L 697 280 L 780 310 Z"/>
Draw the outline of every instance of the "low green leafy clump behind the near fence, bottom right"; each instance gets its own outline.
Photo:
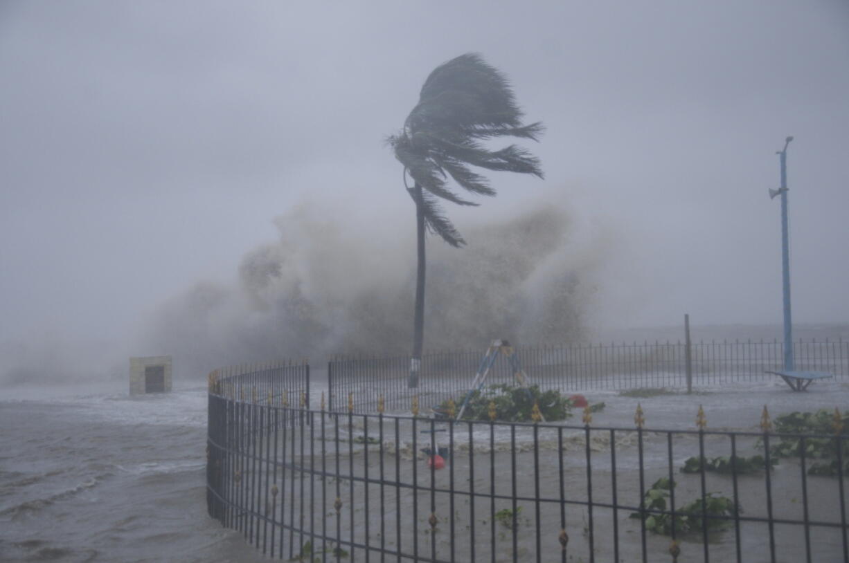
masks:
<path id="1" fill-rule="evenodd" d="M 644 506 L 646 510 L 670 510 L 666 499 L 670 496 L 670 491 L 677 483 L 670 481 L 666 477 L 661 477 L 652 484 L 651 488 L 645 493 Z M 695 499 L 680 508 L 675 510 L 675 518 L 672 519 L 672 514 L 651 514 L 645 515 L 639 512 L 633 512 L 632 518 L 643 518 L 645 527 L 651 532 L 659 533 L 665 536 L 672 535 L 672 525 L 675 525 L 675 532 L 686 534 L 689 532 L 700 532 L 703 527 L 707 527 L 709 531 L 722 530 L 728 527 L 730 520 L 724 520 L 717 516 L 734 517 L 738 512 L 742 512 L 739 506 L 734 506 L 734 501 L 728 497 L 719 496 L 717 493 L 706 493 L 703 499 Z M 705 514 L 702 510 L 704 507 Z M 705 518 L 704 516 L 708 516 Z"/>

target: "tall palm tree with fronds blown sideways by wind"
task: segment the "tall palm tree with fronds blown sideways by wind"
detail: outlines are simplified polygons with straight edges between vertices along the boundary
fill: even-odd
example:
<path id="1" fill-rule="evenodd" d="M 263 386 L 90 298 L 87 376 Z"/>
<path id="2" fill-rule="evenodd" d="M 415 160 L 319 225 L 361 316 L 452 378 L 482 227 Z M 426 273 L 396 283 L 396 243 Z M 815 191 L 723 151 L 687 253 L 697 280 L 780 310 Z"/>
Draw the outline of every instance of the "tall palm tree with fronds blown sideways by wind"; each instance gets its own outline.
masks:
<path id="1" fill-rule="evenodd" d="M 465 244 L 438 201 L 442 198 L 458 205 L 477 205 L 452 192 L 449 177 L 468 192 L 496 194 L 486 177 L 471 166 L 543 177 L 539 159 L 524 148 L 509 145 L 491 150 L 486 146 L 495 137 L 537 141 L 543 125 L 522 125 L 522 115 L 504 75 L 486 64 L 481 55 L 466 53 L 430 73 L 404 128 L 388 139 L 396 159 L 404 165 L 404 186 L 416 205 L 419 267 L 409 387 L 419 385 L 424 343 L 424 229 L 454 248 Z M 413 187 L 408 187 L 408 177 Z"/>

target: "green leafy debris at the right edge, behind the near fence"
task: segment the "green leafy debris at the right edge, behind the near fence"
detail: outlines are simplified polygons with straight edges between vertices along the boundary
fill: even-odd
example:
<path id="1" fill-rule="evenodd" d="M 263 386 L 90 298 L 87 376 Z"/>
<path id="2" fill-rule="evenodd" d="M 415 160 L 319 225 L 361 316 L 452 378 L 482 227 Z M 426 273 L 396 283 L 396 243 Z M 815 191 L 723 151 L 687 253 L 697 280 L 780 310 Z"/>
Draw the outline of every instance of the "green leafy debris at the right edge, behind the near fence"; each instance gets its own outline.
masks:
<path id="1" fill-rule="evenodd" d="M 846 413 L 846 410 L 844 410 Z M 841 455 L 844 473 L 849 472 L 849 414 L 835 416 L 834 410 L 820 409 L 816 412 L 792 412 L 773 421 L 779 434 L 812 434 L 817 437 L 780 436 L 778 443 L 771 443 L 769 454 L 774 459 L 801 457 L 803 450 L 808 460 L 823 460 L 813 463 L 807 470 L 809 475 L 835 476 L 838 474 L 838 443 L 842 442 Z M 836 426 L 836 427 L 835 427 Z M 840 434 L 836 431 L 840 430 Z M 837 438 L 840 436 L 841 438 Z M 758 444 L 763 447 L 762 439 Z"/>

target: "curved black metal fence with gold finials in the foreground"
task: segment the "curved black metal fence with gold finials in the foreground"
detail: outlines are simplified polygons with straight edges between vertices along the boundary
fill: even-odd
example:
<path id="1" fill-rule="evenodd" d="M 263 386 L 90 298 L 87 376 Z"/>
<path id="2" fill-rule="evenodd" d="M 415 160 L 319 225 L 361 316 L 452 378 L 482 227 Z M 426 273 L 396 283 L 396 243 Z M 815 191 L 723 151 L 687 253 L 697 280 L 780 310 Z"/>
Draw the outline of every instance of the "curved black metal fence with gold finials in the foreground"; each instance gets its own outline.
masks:
<path id="1" fill-rule="evenodd" d="M 273 558 L 849 561 L 837 412 L 819 435 L 766 411 L 762 432 L 355 414 L 284 404 L 303 369 L 252 376 L 271 400 L 210 382 L 209 514 Z"/>

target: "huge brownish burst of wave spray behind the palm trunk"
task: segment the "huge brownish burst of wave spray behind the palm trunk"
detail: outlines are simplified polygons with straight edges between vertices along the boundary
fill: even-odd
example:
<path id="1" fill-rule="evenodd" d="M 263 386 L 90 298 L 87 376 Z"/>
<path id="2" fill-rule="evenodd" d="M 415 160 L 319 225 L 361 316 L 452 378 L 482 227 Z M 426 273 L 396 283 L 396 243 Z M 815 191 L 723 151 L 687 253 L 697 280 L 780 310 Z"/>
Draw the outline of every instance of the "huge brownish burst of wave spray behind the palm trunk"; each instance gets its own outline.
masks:
<path id="1" fill-rule="evenodd" d="M 278 240 L 247 252 L 233 284 L 199 281 L 161 304 L 143 347 L 174 354 L 195 375 L 240 363 L 409 354 L 413 237 L 340 228 L 318 203 L 298 204 L 274 224 Z M 425 348 L 584 339 L 593 279 L 609 253 L 599 241 L 582 247 L 574 226 L 565 207 L 540 202 L 466 226 L 463 249 L 429 237 Z"/>

